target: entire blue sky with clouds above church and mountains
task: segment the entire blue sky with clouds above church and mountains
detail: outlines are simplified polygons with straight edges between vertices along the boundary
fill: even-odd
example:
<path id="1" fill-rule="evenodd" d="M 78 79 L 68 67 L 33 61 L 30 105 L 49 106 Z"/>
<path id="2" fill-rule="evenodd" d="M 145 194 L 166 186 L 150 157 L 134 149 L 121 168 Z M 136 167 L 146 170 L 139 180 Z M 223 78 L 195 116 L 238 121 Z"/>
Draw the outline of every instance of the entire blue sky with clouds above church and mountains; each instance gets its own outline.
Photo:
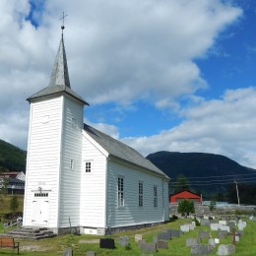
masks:
<path id="1" fill-rule="evenodd" d="M 60 40 L 85 122 L 144 156 L 224 155 L 256 168 L 254 0 L 0 3 L 0 139 L 27 148 L 28 96 Z"/>

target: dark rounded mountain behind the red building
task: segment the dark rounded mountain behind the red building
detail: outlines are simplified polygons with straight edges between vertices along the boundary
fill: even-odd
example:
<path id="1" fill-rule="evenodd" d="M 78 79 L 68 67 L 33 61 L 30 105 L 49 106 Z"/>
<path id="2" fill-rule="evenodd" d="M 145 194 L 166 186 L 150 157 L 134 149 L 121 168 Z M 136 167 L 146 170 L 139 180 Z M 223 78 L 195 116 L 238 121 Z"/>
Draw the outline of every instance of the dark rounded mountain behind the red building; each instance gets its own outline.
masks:
<path id="1" fill-rule="evenodd" d="M 194 192 L 204 192 L 207 195 L 224 193 L 228 185 L 233 186 L 234 180 L 240 182 L 242 177 L 246 177 L 247 174 L 256 174 L 254 169 L 242 166 L 224 156 L 214 154 L 157 152 L 150 154 L 147 159 L 164 171 L 172 181 L 175 181 L 176 177 L 180 174 L 188 178 L 209 177 L 208 179 L 193 178 L 189 180 Z M 241 174 L 246 175 L 241 176 Z M 210 176 L 219 177 L 212 178 Z M 200 180 L 212 182 L 208 184 L 195 182 Z M 216 183 L 214 180 L 218 180 L 219 185 L 213 184 Z M 220 182 L 229 182 L 229 184 L 220 184 Z M 211 183 L 212 185 L 210 185 Z"/>

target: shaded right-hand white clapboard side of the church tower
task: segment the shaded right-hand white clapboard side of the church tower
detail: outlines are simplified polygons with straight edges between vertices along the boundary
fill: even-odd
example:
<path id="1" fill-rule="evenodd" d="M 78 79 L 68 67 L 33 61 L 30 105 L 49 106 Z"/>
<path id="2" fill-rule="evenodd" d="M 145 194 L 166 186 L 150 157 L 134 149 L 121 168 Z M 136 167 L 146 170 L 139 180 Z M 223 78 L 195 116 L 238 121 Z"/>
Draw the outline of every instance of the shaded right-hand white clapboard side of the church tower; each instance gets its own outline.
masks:
<path id="1" fill-rule="evenodd" d="M 60 167 L 59 227 L 80 223 L 83 104 L 65 97 Z"/>

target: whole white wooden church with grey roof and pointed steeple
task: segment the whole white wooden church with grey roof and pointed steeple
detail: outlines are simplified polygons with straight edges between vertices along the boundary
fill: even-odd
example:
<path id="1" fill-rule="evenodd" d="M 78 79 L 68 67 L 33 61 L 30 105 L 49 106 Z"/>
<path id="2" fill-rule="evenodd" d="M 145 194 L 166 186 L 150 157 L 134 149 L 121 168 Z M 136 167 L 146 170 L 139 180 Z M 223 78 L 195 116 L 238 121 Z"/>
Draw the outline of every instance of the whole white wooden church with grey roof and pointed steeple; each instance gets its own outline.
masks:
<path id="1" fill-rule="evenodd" d="M 28 100 L 25 227 L 105 234 L 168 220 L 169 178 L 134 149 L 84 124 L 89 104 L 71 89 L 63 34 L 48 87 Z"/>

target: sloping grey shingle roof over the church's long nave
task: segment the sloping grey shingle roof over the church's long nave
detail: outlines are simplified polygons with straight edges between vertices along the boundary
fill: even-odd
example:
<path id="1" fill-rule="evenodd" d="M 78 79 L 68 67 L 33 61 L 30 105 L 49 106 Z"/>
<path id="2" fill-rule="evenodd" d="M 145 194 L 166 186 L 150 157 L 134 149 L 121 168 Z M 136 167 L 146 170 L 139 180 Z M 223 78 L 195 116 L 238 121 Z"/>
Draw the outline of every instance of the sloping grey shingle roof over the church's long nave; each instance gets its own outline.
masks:
<path id="1" fill-rule="evenodd" d="M 164 172 L 160 170 L 160 168 L 158 168 L 150 160 L 145 159 L 140 153 L 131 147 L 113 139 L 112 137 L 96 130 L 87 124 L 84 124 L 84 129 L 87 134 L 91 136 L 96 141 L 96 143 L 98 143 L 109 155 L 121 160 L 132 162 L 136 165 L 157 172 L 163 175 L 165 178 L 169 178 Z"/>

